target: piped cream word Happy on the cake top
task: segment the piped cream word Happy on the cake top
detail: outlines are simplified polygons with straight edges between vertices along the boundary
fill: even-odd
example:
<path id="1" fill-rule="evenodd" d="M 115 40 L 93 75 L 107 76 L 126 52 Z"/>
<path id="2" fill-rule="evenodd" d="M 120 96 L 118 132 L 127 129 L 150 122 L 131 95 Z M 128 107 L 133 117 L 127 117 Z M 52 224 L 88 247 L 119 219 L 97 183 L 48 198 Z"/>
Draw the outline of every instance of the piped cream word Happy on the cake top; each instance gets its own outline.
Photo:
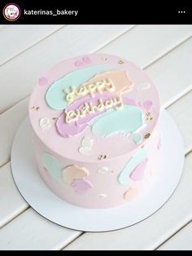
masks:
<path id="1" fill-rule="evenodd" d="M 91 98 L 94 98 L 94 94 L 97 92 L 103 94 L 104 91 L 114 91 L 115 89 L 111 80 L 107 78 L 89 85 L 80 86 L 79 88 L 71 86 L 70 88 L 64 89 L 64 92 L 66 93 L 68 104 L 72 104 L 76 99 L 80 99 L 86 95 L 90 95 Z"/>

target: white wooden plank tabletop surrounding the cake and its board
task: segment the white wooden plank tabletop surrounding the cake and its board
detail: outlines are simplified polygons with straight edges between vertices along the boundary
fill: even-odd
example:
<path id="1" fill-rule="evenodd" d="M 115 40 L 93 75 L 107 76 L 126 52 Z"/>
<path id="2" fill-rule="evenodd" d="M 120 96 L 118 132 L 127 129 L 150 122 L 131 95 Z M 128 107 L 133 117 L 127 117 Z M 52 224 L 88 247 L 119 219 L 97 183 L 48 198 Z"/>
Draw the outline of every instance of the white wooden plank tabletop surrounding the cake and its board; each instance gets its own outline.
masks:
<path id="1" fill-rule="evenodd" d="M 0 249 L 192 249 L 192 25 L 0 26 Z M 11 175 L 15 131 L 28 95 L 59 61 L 91 52 L 120 55 L 146 70 L 181 130 L 185 168 L 170 200 L 115 232 L 76 232 L 42 218 Z"/>

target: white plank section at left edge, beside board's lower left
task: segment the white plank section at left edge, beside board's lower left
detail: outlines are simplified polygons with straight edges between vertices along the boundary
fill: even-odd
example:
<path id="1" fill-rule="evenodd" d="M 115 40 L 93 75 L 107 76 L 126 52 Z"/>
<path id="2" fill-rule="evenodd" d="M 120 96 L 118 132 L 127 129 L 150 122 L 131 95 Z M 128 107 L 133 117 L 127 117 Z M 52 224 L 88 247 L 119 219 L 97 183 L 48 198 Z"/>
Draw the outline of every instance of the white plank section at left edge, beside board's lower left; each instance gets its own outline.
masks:
<path id="1" fill-rule="evenodd" d="M 10 163 L 0 169 L 0 228 L 28 208 L 11 174 Z M 1 239 L 0 239 L 1 245 Z"/>

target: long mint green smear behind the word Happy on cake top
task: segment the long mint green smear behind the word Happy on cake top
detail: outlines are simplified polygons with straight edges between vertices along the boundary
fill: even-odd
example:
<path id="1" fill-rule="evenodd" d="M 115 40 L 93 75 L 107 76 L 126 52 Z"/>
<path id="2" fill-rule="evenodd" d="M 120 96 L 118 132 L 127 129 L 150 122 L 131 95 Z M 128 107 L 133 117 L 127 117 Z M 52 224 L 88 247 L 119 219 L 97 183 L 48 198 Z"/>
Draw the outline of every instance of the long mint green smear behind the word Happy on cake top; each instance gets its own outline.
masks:
<path id="1" fill-rule="evenodd" d="M 46 104 L 55 110 L 61 110 L 68 106 L 68 101 L 65 99 L 64 88 L 69 86 L 79 87 L 89 79 L 106 71 L 111 71 L 115 67 L 111 65 L 94 65 L 89 68 L 81 68 L 68 73 L 65 77 L 54 82 L 46 92 Z M 117 69 L 117 68 L 116 68 Z"/>

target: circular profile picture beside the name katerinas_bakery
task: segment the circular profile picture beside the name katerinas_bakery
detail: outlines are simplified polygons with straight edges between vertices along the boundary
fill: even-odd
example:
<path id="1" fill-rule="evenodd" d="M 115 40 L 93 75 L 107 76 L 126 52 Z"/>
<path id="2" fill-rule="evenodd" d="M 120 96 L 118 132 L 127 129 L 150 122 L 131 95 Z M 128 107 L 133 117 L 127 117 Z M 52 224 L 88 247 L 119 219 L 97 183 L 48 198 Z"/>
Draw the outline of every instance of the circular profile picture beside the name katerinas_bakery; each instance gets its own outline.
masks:
<path id="1" fill-rule="evenodd" d="M 3 16 L 9 21 L 18 20 L 20 18 L 20 13 L 20 7 L 15 3 L 8 3 L 2 11 Z"/>

